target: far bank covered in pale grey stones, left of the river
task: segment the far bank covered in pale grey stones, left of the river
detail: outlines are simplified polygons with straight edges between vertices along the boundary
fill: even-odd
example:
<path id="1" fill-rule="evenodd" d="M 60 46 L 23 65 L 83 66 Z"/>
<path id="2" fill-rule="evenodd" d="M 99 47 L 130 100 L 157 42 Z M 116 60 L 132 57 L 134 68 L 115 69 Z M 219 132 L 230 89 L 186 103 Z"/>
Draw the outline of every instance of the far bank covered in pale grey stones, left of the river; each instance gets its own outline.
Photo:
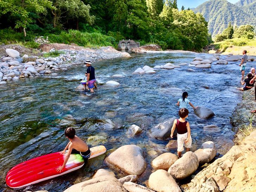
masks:
<path id="1" fill-rule="evenodd" d="M 101 59 L 130 57 L 129 53 L 117 51 L 111 46 L 93 50 L 65 44 L 42 44 L 40 47 L 43 52 L 36 52 L 38 56 L 24 54 L 21 46 L 9 47 L 5 49 L 6 53 L 1 52 L 3 56 L 0 57 L 0 85 L 25 77 L 57 76 L 59 70 L 67 70 L 72 65 L 83 64 L 85 60 L 94 63 Z M 51 53 L 56 50 L 61 51 L 58 57 L 42 57 L 45 51 Z"/>

